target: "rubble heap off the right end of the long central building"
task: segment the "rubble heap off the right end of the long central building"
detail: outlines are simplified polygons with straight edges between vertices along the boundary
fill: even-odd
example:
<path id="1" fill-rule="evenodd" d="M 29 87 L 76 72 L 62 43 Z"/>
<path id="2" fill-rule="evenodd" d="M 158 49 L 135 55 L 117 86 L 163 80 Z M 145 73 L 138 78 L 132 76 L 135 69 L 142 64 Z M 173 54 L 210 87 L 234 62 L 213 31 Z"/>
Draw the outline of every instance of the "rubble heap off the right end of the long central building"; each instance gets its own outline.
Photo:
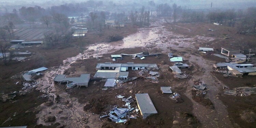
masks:
<path id="1" fill-rule="evenodd" d="M 151 69 L 143 69 L 139 72 L 139 75 L 144 79 L 150 80 L 153 83 L 158 83 L 158 77 L 160 76 L 159 72 L 151 71 Z"/>

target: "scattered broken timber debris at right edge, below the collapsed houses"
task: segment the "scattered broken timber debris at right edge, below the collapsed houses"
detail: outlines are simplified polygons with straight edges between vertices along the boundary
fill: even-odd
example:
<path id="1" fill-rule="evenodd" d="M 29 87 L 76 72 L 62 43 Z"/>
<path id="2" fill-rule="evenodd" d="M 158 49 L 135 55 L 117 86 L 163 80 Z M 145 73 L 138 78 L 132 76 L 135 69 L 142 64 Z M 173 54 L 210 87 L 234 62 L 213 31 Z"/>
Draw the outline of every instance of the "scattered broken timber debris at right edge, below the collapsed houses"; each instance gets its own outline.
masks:
<path id="1" fill-rule="evenodd" d="M 224 94 L 230 96 L 250 96 L 251 94 L 256 94 L 256 87 L 238 87 L 230 90 L 228 87 L 224 88 Z"/>

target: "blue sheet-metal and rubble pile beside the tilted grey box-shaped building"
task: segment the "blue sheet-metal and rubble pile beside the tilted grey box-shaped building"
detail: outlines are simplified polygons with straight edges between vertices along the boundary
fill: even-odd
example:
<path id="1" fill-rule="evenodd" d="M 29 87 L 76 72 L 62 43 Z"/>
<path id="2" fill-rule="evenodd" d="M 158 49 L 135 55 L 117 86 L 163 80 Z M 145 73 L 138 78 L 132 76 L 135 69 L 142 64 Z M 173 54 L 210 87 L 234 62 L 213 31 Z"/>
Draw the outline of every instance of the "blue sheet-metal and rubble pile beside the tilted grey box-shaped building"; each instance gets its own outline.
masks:
<path id="1" fill-rule="evenodd" d="M 137 109 L 136 106 L 136 100 L 131 96 L 125 98 L 125 96 L 117 95 L 116 98 L 122 99 L 122 101 L 126 102 L 126 104 L 123 105 L 125 108 L 117 108 L 117 106 L 114 106 L 114 108 L 110 111 L 109 114 L 100 116 L 100 119 L 108 117 L 110 120 L 112 120 L 112 122 L 116 123 L 126 123 L 127 120 L 130 118 L 136 119 L 136 117 L 138 116 L 137 114 L 139 112 L 139 109 Z"/>

